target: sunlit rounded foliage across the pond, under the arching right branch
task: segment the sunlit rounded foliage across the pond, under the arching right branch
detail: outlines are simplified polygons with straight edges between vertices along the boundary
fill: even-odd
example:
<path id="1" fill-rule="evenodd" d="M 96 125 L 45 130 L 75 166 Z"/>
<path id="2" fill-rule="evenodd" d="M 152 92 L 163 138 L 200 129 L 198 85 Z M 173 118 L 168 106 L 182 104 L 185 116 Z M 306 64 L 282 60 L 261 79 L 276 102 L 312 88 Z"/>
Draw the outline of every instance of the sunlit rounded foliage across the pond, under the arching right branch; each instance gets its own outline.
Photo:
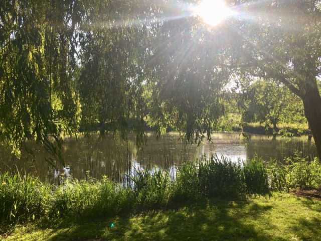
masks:
<path id="1" fill-rule="evenodd" d="M 306 124 L 300 98 L 274 82 L 256 80 L 248 85 L 243 83 L 242 92 L 237 97 L 243 121 L 259 122 L 266 131 L 272 126 L 276 134 L 279 123 L 296 124 L 301 129 Z M 281 132 L 284 129 L 279 134 Z"/>

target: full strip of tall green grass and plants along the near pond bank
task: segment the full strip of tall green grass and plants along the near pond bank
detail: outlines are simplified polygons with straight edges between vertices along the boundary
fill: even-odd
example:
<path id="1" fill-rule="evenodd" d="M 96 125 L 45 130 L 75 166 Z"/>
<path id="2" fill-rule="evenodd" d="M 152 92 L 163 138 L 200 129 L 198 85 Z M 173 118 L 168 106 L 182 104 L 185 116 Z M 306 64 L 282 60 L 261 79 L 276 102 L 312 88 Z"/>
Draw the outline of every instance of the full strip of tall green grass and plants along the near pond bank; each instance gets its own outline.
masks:
<path id="1" fill-rule="evenodd" d="M 190 161 L 171 179 L 169 170 L 135 169 L 128 176 L 132 185 L 121 185 L 106 176 L 81 181 L 63 178 L 59 186 L 40 182 L 30 175 L 0 175 L 0 223 L 45 219 L 79 218 L 166 207 L 202 197 L 244 198 L 247 194 L 269 194 L 297 187 L 321 186 L 321 165 L 299 157 L 287 165 L 251 162 L 233 163 L 212 156 Z M 0 225 L 1 226 L 1 225 Z"/>

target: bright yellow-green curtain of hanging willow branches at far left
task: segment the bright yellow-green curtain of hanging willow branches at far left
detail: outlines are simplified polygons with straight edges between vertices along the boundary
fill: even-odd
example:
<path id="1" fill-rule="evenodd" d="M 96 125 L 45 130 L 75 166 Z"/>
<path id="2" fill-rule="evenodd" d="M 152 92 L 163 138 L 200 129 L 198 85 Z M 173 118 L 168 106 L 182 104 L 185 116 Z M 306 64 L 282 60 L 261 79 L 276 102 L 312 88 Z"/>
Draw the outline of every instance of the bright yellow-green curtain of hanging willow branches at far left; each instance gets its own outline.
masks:
<path id="1" fill-rule="evenodd" d="M 63 162 L 48 134 L 60 147 L 59 129 L 71 133 L 78 127 L 75 60 L 68 57 L 74 54 L 71 4 L 0 2 L 0 138 L 16 154 L 26 138 L 35 138 Z"/>

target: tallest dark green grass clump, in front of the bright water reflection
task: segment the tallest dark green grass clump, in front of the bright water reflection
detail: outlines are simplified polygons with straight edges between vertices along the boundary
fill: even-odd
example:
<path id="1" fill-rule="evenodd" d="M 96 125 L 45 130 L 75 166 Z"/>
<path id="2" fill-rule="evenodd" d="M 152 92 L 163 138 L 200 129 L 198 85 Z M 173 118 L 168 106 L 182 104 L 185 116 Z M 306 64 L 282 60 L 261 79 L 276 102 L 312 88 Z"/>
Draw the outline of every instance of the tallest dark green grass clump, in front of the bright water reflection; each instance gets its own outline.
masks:
<path id="1" fill-rule="evenodd" d="M 233 163 L 216 155 L 204 156 L 196 162 L 187 162 L 177 175 L 178 195 L 187 197 L 229 196 L 239 197 L 245 193 L 244 174 L 241 163 Z"/>

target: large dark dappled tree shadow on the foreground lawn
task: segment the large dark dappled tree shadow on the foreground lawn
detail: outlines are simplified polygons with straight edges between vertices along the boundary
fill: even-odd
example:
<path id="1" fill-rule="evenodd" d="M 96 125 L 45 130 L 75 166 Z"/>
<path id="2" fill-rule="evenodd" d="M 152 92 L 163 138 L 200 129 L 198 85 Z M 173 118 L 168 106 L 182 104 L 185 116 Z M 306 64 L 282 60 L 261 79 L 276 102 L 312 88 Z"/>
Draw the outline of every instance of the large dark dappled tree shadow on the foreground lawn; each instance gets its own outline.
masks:
<path id="1" fill-rule="evenodd" d="M 244 219 L 251 215 L 255 220 L 271 208 L 245 201 L 207 200 L 166 211 L 78 221 L 55 230 L 50 240 L 271 240 L 268 233 Z"/>

